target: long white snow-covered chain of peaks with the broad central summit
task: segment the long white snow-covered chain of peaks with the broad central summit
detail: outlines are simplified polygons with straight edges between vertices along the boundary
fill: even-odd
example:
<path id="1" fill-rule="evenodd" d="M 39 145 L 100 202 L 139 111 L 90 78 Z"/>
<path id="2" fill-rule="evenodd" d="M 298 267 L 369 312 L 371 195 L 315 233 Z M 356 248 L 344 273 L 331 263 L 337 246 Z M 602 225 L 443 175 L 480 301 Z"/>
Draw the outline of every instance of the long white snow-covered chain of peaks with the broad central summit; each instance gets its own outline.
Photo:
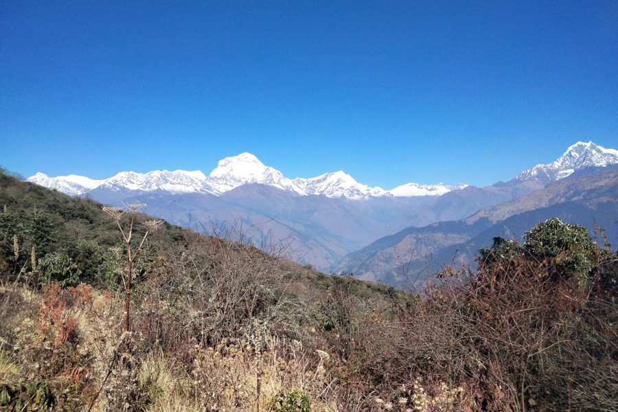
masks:
<path id="1" fill-rule="evenodd" d="M 406 183 L 393 190 L 370 187 L 358 183 L 352 176 L 342 170 L 321 174 L 309 179 L 288 179 L 286 176 L 266 166 L 251 153 L 244 152 L 218 161 L 217 167 L 206 176 L 199 170 L 155 170 L 148 173 L 119 172 L 109 179 L 94 180 L 85 176 L 50 177 L 38 172 L 27 179 L 32 183 L 56 189 L 71 196 L 87 194 L 98 187 L 111 190 L 128 189 L 155 192 L 162 190 L 170 193 L 203 193 L 216 196 L 229 192 L 242 185 L 258 183 L 286 190 L 301 196 L 326 196 L 330 198 L 347 198 L 361 200 L 369 197 L 395 196 L 439 196 L 466 187 L 466 185 L 419 185 Z"/>

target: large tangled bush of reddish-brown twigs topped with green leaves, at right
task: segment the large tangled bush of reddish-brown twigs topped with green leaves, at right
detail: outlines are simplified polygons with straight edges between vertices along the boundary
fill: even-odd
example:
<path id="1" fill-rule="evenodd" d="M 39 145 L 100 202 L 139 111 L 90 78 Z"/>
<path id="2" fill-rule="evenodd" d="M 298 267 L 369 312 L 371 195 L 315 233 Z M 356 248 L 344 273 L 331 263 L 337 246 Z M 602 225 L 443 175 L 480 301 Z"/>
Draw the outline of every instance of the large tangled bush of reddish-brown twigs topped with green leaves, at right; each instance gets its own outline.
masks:
<path id="1" fill-rule="evenodd" d="M 552 218 L 527 231 L 523 246 L 494 239 L 479 251 L 476 274 L 437 289 L 437 297 L 451 293 L 463 312 L 459 330 L 474 341 L 476 361 L 493 365 L 478 385 L 494 409 L 618 408 L 609 383 L 618 370 L 618 254 L 604 243 L 595 244 L 583 226 Z M 464 334 L 457 345 L 465 341 Z M 494 395 L 493 382 L 506 396 Z"/>

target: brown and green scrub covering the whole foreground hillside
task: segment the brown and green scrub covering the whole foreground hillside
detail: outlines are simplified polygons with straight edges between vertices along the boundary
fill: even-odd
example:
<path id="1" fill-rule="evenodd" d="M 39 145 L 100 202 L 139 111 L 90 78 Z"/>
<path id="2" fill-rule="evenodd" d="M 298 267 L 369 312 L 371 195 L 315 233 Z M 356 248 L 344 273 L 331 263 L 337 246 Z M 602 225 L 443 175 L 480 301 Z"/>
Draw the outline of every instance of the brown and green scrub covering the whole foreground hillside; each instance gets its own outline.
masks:
<path id="1" fill-rule="evenodd" d="M 618 255 L 548 220 L 422 294 L 0 174 L 0 408 L 618 410 Z M 146 235 L 135 214 L 134 250 Z M 130 214 L 119 216 L 122 225 Z"/>

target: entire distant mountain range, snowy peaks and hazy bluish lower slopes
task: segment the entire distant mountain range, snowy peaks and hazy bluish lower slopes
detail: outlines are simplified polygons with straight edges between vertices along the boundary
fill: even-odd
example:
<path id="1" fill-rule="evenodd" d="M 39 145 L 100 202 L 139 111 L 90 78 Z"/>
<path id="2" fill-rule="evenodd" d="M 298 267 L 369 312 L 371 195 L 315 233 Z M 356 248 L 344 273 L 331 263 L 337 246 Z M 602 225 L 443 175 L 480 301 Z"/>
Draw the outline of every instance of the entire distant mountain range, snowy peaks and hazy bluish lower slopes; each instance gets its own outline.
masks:
<path id="1" fill-rule="evenodd" d="M 194 229 L 234 226 L 244 238 L 264 249 L 266 245 L 285 249 L 299 262 L 379 279 L 374 269 L 359 269 L 361 260 L 356 266 L 346 264 L 354 256 L 349 254 L 384 242 L 380 238 L 385 236 L 398 236 L 393 233 L 467 218 L 483 208 L 542 190 L 577 171 L 616 163 L 617 150 L 580 141 L 552 163 L 482 188 L 407 183 L 384 190 L 358 183 L 343 171 L 289 179 L 247 152 L 220 160 L 208 176 L 198 170 L 163 170 L 119 172 L 103 180 L 37 173 L 28 180 L 113 205 L 146 203 L 149 214 Z M 422 252 L 426 255 L 466 239 L 461 234 L 449 237 L 442 233 L 434 247 L 424 247 Z"/>

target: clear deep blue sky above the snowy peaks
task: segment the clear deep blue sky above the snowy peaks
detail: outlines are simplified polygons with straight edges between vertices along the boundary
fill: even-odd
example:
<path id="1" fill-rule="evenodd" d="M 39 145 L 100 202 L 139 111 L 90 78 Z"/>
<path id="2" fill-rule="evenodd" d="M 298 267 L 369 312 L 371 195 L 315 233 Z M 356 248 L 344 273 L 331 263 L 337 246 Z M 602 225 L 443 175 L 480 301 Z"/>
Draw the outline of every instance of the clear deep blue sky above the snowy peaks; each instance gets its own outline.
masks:
<path id="1" fill-rule="evenodd" d="M 485 185 L 577 140 L 618 148 L 618 1 L 0 2 L 0 164 L 24 176 L 249 151 Z"/>

